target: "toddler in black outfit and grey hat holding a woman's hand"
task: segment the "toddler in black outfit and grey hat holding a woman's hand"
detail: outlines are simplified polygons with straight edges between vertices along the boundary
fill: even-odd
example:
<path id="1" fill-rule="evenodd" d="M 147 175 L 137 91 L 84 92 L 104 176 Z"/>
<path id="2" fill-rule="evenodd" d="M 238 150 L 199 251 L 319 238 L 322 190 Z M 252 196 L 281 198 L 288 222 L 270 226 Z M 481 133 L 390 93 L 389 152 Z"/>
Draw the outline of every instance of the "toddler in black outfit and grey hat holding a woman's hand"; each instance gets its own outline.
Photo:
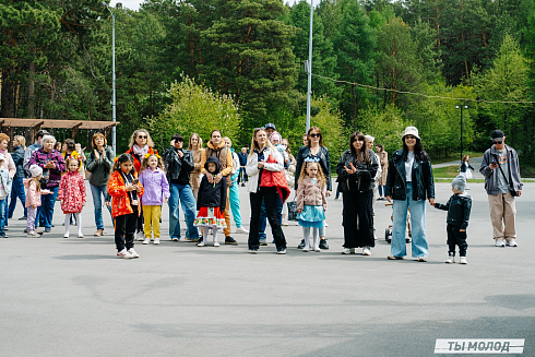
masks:
<path id="1" fill-rule="evenodd" d="M 435 203 L 435 209 L 448 211 L 448 246 L 449 257 L 445 263 L 452 264 L 455 262 L 455 245 L 459 246 L 460 263 L 466 264 L 466 228 L 468 227 L 469 211 L 472 209 L 472 198 L 464 193 L 466 188 L 466 179 L 463 176 L 457 176 L 451 182 L 453 195 L 447 204 Z"/>

